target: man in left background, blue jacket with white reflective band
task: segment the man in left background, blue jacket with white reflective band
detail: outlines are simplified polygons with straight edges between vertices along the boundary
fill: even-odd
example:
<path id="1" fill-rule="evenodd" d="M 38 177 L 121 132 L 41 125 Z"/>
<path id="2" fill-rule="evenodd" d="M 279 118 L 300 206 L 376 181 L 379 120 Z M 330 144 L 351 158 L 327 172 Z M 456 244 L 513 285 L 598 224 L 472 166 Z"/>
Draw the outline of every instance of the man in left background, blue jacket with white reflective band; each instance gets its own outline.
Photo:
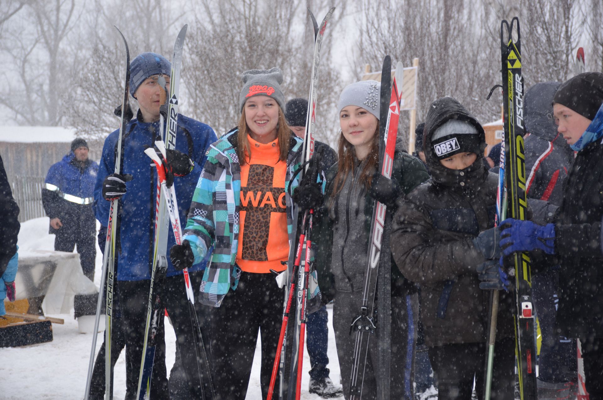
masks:
<path id="1" fill-rule="evenodd" d="M 88 158 L 86 140 L 71 142 L 71 151 L 52 164 L 42 189 L 42 204 L 55 234 L 55 251 L 80 254 L 81 269 L 94 280 L 96 221 L 92 203 L 98 164 Z M 77 315 L 76 315 L 77 317 Z"/>

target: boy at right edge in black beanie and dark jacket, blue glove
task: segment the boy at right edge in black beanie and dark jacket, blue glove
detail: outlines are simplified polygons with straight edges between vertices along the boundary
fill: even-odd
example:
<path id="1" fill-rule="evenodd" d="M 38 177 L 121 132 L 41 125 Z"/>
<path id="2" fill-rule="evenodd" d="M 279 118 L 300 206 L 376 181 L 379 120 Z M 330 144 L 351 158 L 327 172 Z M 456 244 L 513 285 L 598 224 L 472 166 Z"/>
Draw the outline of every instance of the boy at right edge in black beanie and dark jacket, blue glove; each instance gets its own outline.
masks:
<path id="1" fill-rule="evenodd" d="M 560 264 L 558 334 L 582 342 L 586 389 L 603 399 L 603 74 L 582 73 L 553 98 L 557 132 L 578 152 L 551 224 L 507 219 L 501 227 L 505 255 L 538 251 Z"/>

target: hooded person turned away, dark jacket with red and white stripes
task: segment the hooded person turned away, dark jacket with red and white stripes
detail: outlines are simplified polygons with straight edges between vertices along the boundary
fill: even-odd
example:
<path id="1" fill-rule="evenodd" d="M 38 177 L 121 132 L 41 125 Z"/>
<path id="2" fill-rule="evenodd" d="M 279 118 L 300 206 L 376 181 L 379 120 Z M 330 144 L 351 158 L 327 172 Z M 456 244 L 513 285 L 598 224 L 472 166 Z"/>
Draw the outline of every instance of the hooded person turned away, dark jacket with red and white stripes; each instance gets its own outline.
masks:
<path id="1" fill-rule="evenodd" d="M 572 167 L 574 151 L 559 132 L 553 117 L 553 96 L 560 82 L 531 86 L 524 97 L 525 158 L 528 198 L 561 205 L 563 182 Z M 545 223 L 551 215 L 545 215 Z M 546 220 L 549 221 L 546 221 Z M 559 271 L 551 266 L 532 276 L 532 296 L 541 332 L 538 358 L 538 398 L 556 399 L 576 389 L 576 343 L 555 331 Z"/>

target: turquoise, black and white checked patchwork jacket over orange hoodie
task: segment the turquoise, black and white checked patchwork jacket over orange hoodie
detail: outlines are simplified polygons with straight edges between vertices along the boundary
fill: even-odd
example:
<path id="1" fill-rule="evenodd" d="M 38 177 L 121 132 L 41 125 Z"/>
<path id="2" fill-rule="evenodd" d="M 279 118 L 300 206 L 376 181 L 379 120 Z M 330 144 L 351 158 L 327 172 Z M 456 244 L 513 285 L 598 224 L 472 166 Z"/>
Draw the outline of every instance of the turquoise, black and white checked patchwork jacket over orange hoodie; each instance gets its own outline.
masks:
<path id="1" fill-rule="evenodd" d="M 236 289 L 241 269 L 236 265 L 241 207 L 241 166 L 236 154 L 238 130 L 228 132 L 207 149 L 207 161 L 192 197 L 183 239 L 190 242 L 194 263 L 213 246 L 209 266 L 203 274 L 199 301 L 219 307 L 229 289 Z M 300 166 L 303 141 L 291 135 L 285 178 L 287 232 L 289 245 L 294 240 L 297 206 L 290 193 L 299 185 L 294 176 Z"/>

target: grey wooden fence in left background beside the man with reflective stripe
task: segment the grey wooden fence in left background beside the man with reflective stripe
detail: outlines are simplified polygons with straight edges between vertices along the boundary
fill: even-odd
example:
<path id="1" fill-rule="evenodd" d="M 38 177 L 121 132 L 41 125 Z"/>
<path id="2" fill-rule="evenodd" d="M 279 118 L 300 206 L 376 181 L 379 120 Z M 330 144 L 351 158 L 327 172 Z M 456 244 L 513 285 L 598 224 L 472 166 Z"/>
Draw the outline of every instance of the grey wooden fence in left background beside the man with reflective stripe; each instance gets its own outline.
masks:
<path id="1" fill-rule="evenodd" d="M 13 190 L 13 198 L 19 205 L 19 222 L 46 216 L 42 207 L 43 176 L 12 175 L 8 181 Z"/>

